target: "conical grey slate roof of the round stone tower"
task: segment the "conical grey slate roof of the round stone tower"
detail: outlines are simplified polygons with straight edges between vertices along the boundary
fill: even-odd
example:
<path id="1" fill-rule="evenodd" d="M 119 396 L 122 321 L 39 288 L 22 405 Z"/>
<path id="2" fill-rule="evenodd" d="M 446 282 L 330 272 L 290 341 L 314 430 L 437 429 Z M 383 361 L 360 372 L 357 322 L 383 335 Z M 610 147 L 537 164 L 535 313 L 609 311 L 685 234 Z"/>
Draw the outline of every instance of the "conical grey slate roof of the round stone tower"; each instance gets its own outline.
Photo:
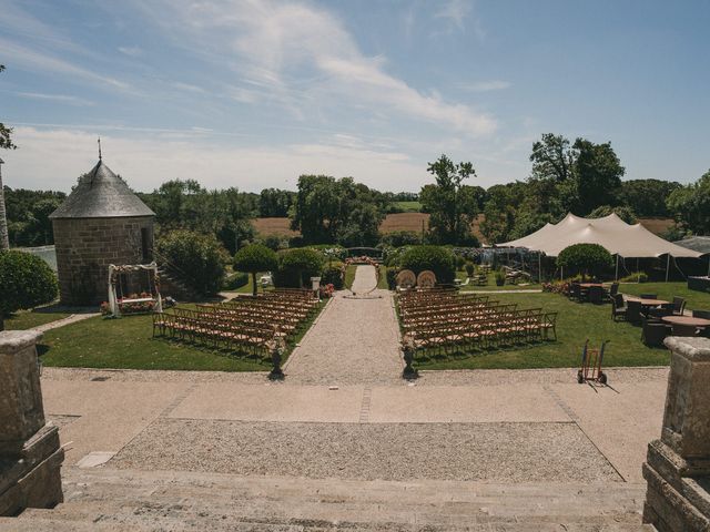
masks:
<path id="1" fill-rule="evenodd" d="M 155 216 L 155 213 L 100 160 L 91 172 L 79 178 L 77 187 L 49 217 L 57 219 L 128 216 Z"/>

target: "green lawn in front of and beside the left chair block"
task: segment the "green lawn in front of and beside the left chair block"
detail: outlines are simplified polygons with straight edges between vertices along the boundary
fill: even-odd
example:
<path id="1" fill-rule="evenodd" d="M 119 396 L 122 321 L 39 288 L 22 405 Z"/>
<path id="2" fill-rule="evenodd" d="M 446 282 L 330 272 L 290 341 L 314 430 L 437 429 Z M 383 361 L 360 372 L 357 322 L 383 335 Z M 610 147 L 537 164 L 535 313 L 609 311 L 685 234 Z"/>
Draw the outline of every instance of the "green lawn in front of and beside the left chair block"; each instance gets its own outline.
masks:
<path id="1" fill-rule="evenodd" d="M 325 301 L 318 307 L 318 313 L 324 306 Z M 301 335 L 290 342 L 284 361 L 310 325 L 306 324 Z M 178 340 L 152 338 L 150 315 L 125 316 L 121 319 L 97 317 L 53 329 L 44 335 L 39 350 L 44 366 L 213 371 L 271 369 L 270 359 L 251 354 L 231 354 Z"/>

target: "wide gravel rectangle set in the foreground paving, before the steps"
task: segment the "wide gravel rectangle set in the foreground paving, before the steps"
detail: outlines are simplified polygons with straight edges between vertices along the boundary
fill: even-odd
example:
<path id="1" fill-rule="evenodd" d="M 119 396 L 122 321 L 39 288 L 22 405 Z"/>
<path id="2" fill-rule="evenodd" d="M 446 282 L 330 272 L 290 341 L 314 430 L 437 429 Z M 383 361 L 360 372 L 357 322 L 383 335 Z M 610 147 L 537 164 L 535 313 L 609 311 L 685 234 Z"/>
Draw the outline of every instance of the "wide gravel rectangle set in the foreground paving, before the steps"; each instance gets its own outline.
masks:
<path id="1" fill-rule="evenodd" d="M 160 419 L 110 462 L 361 480 L 610 481 L 574 423 L 282 423 Z"/>

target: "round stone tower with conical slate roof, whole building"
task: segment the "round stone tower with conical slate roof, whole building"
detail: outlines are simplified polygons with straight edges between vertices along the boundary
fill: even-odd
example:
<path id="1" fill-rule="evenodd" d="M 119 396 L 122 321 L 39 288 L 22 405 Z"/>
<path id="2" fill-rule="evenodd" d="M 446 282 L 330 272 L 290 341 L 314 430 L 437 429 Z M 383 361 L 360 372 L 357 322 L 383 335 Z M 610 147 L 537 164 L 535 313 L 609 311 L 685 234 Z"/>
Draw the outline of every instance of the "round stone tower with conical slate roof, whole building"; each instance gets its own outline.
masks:
<path id="1" fill-rule="evenodd" d="M 110 264 L 153 258 L 155 213 L 101 158 L 50 218 L 64 305 L 105 301 Z"/>

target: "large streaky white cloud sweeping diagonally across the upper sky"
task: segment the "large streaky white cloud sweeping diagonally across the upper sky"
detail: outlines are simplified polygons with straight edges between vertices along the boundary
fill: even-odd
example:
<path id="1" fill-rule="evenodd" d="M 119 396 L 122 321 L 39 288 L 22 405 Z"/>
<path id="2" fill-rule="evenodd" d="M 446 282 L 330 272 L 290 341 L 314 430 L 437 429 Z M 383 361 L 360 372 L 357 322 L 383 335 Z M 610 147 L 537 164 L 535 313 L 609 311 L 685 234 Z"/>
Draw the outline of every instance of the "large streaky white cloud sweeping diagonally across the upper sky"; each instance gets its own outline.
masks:
<path id="1" fill-rule="evenodd" d="M 373 114 L 396 113 L 470 135 L 496 130 L 493 116 L 425 94 L 389 74 L 384 58 L 364 55 L 337 18 L 311 4 L 205 0 L 142 9 L 181 45 L 260 88 L 257 93 L 234 91 L 241 102 L 264 98 L 302 120 L 324 109 L 365 106 Z"/>

